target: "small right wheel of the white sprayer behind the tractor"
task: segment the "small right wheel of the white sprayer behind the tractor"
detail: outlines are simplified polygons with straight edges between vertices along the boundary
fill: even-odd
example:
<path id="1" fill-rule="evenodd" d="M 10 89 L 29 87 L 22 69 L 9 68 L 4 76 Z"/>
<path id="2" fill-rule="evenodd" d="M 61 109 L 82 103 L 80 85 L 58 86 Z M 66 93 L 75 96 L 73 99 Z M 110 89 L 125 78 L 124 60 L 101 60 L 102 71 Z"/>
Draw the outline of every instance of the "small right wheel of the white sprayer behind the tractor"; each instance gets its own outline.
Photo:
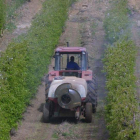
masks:
<path id="1" fill-rule="evenodd" d="M 85 119 L 87 123 L 92 122 L 92 104 L 91 103 L 86 103 L 85 106 Z"/>

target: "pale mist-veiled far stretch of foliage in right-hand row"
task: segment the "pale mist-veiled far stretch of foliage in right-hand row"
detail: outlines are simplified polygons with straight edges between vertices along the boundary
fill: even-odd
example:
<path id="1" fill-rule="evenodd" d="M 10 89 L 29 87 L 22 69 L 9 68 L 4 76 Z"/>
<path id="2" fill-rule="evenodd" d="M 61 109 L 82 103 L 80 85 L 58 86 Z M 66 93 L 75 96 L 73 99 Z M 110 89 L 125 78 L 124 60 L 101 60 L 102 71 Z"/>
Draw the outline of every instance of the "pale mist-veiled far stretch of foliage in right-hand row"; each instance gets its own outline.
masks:
<path id="1" fill-rule="evenodd" d="M 106 38 L 112 43 L 121 38 L 128 27 L 127 0 L 111 1 L 111 8 L 106 12 L 104 28 Z"/>

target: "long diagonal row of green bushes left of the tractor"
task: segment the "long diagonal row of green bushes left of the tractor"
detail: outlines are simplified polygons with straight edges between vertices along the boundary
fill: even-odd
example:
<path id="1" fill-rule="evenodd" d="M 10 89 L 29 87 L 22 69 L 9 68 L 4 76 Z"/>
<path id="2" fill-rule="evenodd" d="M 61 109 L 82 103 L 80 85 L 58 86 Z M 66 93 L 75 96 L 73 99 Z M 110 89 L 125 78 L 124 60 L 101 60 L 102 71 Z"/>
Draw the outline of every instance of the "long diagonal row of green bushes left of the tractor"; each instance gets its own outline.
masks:
<path id="1" fill-rule="evenodd" d="M 0 139 L 9 139 L 47 72 L 74 0 L 46 0 L 29 33 L 11 43 L 0 60 Z"/>

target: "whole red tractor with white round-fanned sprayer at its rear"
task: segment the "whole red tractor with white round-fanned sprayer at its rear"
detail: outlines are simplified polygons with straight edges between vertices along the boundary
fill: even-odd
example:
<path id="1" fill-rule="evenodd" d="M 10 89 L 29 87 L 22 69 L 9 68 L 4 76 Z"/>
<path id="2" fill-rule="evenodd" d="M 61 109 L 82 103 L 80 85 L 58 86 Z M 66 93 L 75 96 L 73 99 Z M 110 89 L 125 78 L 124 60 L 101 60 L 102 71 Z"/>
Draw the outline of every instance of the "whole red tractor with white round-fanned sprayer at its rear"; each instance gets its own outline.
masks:
<path id="1" fill-rule="evenodd" d="M 83 47 L 58 47 L 55 50 L 55 67 L 46 76 L 46 103 L 43 121 L 51 117 L 75 117 L 83 115 L 92 121 L 97 107 L 97 84 L 88 65 L 88 53 Z M 75 58 L 74 67 L 70 65 Z M 76 63 L 76 64 L 75 64 Z"/>

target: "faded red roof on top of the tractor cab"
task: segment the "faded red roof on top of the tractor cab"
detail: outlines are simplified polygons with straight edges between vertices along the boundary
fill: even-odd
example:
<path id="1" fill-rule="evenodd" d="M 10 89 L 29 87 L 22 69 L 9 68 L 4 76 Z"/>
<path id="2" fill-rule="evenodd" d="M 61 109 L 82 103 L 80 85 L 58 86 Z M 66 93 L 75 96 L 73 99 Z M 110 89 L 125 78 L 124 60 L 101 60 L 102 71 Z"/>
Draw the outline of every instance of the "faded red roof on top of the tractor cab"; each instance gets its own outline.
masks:
<path id="1" fill-rule="evenodd" d="M 86 48 L 83 47 L 58 47 L 55 52 L 86 52 Z"/>

